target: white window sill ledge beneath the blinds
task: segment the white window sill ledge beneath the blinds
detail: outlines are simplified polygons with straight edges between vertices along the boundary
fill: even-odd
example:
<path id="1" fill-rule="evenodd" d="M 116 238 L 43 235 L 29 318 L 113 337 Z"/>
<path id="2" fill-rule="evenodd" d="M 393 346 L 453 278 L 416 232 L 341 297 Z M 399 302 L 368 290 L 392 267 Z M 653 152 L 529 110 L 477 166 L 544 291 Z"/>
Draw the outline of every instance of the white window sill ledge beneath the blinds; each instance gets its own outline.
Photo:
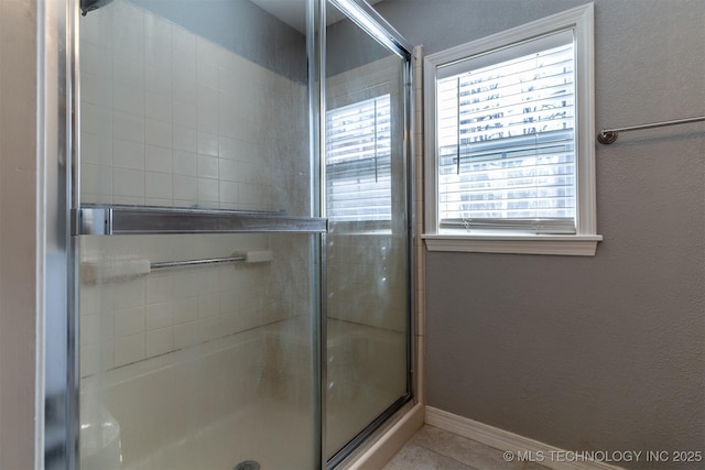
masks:
<path id="1" fill-rule="evenodd" d="M 429 251 L 594 256 L 603 236 L 427 233 Z"/>

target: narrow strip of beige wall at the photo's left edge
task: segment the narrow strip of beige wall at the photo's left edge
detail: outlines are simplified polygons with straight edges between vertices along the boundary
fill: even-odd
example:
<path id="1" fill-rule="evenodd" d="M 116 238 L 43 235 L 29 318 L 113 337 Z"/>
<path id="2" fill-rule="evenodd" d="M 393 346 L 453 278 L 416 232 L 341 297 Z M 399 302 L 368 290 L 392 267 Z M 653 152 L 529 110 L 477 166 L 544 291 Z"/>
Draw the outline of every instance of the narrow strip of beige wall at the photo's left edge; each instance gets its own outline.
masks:
<path id="1" fill-rule="evenodd" d="M 0 0 L 0 468 L 34 464 L 36 4 Z"/>

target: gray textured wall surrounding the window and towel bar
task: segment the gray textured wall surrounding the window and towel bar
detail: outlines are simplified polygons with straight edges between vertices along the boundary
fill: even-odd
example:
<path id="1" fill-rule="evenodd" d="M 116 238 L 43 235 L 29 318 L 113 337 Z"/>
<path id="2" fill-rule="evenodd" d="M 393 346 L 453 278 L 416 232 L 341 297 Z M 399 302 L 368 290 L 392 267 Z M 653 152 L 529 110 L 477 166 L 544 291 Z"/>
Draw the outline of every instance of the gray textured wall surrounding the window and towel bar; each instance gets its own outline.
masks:
<path id="1" fill-rule="evenodd" d="M 582 3 L 376 8 L 429 54 Z M 595 8 L 598 129 L 705 114 L 705 2 Z M 595 258 L 426 253 L 427 404 L 568 450 L 705 450 L 705 124 L 596 145 Z"/>

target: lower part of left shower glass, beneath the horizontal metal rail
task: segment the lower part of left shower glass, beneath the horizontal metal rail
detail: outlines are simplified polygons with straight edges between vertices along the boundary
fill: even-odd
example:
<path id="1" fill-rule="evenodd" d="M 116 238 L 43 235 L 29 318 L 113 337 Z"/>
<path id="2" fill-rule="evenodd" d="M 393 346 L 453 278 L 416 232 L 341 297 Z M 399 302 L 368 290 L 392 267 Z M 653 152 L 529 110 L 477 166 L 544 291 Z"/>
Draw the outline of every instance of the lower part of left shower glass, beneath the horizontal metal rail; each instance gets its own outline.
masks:
<path id="1" fill-rule="evenodd" d="M 83 237 L 82 469 L 314 468 L 317 239 Z"/>

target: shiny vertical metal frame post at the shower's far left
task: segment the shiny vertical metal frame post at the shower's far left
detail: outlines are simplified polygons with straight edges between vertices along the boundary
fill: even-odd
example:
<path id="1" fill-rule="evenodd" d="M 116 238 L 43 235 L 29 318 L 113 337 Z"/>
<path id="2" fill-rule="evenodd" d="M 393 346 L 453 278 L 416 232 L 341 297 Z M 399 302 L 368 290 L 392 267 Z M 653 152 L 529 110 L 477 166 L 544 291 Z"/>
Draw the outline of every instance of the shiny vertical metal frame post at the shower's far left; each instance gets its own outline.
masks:
<path id="1" fill-rule="evenodd" d="M 42 252 L 37 297 L 37 467 L 78 462 L 78 345 L 75 247 L 69 208 L 77 194 L 75 44 L 77 2 L 37 2 L 37 203 Z M 75 192 L 75 193 L 74 193 Z M 41 455 L 40 455 L 41 452 Z"/>

